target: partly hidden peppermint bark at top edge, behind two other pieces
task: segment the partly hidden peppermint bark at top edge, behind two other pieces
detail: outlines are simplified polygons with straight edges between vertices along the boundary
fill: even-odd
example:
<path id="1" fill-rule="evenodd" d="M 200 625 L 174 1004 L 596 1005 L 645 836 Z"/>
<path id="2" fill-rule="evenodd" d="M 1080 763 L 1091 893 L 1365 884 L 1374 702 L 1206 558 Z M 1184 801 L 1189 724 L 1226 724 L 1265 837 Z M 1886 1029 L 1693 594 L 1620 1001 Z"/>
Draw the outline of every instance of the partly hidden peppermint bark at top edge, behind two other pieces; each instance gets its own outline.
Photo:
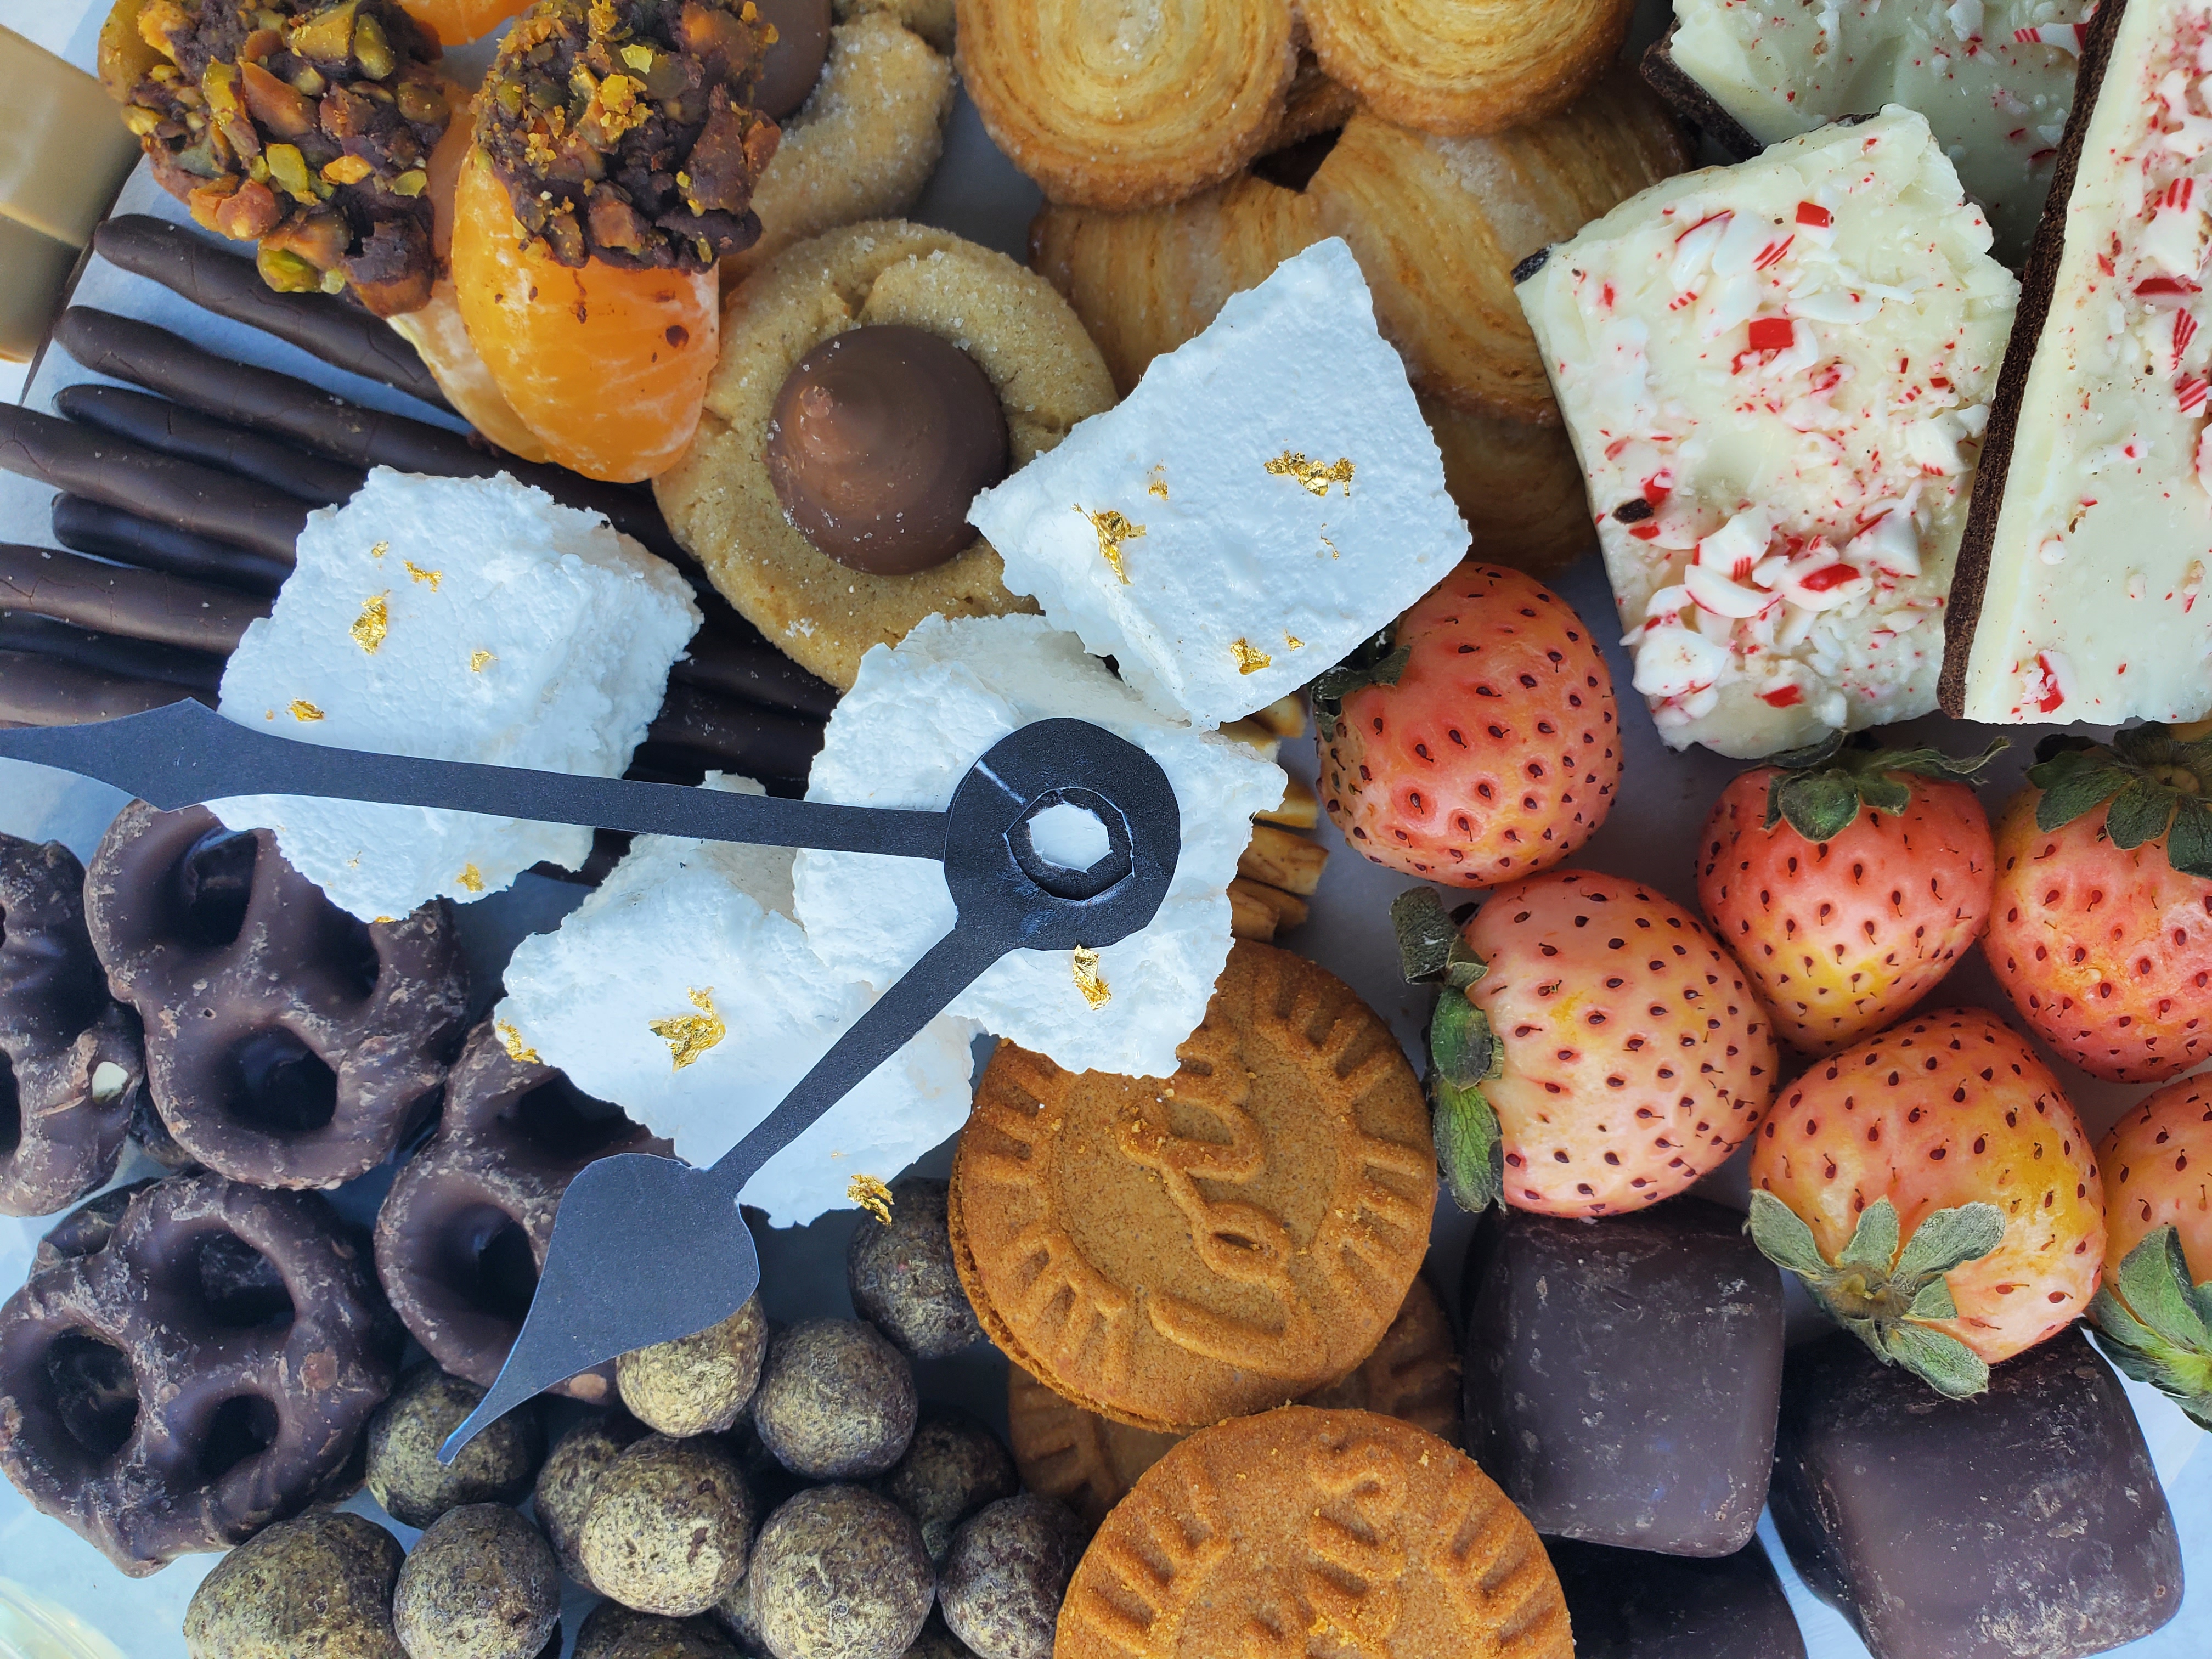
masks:
<path id="1" fill-rule="evenodd" d="M 2088 0 L 1674 0 L 1674 66 L 1761 144 L 1920 111 L 2020 263 L 2073 104 Z"/>

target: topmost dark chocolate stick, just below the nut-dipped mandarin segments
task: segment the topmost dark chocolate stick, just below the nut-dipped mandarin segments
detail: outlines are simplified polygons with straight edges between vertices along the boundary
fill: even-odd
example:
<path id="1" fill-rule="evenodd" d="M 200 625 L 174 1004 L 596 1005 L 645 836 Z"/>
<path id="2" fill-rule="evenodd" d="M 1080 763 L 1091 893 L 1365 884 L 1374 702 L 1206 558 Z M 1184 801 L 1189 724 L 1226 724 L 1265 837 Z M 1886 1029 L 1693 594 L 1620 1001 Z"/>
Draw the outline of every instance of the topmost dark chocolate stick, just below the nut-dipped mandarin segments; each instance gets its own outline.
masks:
<path id="1" fill-rule="evenodd" d="M 232 323 L 268 330 L 332 367 L 445 407 L 438 380 L 389 323 L 332 294 L 279 294 L 254 261 L 184 226 L 126 212 L 93 232 L 93 252 Z"/>

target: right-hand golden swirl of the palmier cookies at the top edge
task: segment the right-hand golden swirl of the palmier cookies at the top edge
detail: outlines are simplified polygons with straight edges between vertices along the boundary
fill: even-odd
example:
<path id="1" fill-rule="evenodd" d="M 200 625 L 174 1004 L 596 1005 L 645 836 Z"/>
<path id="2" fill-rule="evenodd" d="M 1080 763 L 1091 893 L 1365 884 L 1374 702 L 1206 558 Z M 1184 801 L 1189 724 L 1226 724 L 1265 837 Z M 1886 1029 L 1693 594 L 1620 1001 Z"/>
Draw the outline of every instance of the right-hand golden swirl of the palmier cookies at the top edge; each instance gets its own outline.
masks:
<path id="1" fill-rule="evenodd" d="M 1385 122 L 1502 133 L 1557 115 L 1628 38 L 1635 0 L 1303 0 L 1321 69 Z"/>

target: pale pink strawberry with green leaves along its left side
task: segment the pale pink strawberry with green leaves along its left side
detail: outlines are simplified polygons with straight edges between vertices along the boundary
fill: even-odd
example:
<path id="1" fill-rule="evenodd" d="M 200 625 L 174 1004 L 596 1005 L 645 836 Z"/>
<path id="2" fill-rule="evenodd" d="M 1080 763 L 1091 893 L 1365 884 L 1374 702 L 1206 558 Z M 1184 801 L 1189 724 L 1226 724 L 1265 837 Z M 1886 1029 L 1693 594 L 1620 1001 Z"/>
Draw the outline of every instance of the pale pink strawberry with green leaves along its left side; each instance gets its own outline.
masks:
<path id="1" fill-rule="evenodd" d="M 1464 931 L 1416 887 L 1391 905 L 1407 978 L 1444 987 L 1429 1082 L 1467 1210 L 1639 1210 L 1717 1168 L 1774 1095 L 1743 969 L 1659 894 L 1588 869 L 1500 887 Z"/>

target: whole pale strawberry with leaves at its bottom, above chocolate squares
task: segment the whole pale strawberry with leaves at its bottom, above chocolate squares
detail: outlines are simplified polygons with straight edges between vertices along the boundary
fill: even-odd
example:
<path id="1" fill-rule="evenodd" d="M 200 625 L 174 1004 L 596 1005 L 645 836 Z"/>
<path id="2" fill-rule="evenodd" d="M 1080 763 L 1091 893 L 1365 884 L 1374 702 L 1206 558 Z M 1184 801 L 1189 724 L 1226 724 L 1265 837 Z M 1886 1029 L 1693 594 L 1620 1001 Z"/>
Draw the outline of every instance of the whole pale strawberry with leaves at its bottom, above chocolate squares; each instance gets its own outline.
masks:
<path id="1" fill-rule="evenodd" d="M 2081 1119 L 1984 1009 L 1907 1020 L 1785 1088 L 1752 1148 L 1750 1225 L 1885 1363 L 1951 1398 L 2070 1325 L 2104 1265 Z"/>

